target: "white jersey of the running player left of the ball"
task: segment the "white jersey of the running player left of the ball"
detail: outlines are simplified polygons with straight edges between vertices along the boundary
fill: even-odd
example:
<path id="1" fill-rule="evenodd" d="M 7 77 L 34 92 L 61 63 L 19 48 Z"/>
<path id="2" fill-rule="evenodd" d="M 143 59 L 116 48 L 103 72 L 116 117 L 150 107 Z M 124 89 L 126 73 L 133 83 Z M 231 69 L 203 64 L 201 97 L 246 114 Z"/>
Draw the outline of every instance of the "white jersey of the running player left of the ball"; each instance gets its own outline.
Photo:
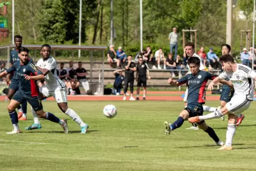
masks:
<path id="1" fill-rule="evenodd" d="M 40 58 L 37 62 L 37 66 L 41 69 L 47 69 L 50 72 L 45 75 L 45 81 L 49 90 L 55 90 L 56 88 L 65 88 L 65 83 L 60 80 L 57 76 L 57 63 L 53 57 L 49 57 L 44 61 L 44 59 Z"/>

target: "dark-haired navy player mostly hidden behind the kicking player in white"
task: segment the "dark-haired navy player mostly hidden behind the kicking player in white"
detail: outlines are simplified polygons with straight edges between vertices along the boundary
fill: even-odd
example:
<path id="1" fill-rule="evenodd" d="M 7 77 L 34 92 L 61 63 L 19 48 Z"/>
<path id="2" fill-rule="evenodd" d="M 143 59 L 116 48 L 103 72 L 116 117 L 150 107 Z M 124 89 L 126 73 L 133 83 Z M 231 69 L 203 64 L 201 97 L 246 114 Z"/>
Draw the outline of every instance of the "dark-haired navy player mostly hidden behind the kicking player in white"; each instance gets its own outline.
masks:
<path id="1" fill-rule="evenodd" d="M 228 44 L 221 45 L 222 55 L 230 54 L 230 52 L 231 52 L 231 46 L 230 45 L 228 45 Z M 226 78 L 225 80 L 229 81 L 228 78 Z M 220 95 L 220 106 L 224 107 L 227 104 L 227 102 L 229 102 L 231 100 L 233 95 L 234 95 L 234 90 L 231 89 L 229 86 L 224 84 L 223 87 L 222 87 L 221 95 Z M 218 107 L 218 108 L 221 108 L 221 107 Z M 203 106 L 203 110 L 207 111 L 207 112 L 215 112 L 217 110 L 217 108 L 209 107 L 209 106 Z M 225 116 L 221 117 L 221 119 L 224 121 Z M 236 126 L 240 125 L 242 123 L 243 119 L 244 119 L 243 114 L 238 115 L 237 119 L 236 119 Z"/>

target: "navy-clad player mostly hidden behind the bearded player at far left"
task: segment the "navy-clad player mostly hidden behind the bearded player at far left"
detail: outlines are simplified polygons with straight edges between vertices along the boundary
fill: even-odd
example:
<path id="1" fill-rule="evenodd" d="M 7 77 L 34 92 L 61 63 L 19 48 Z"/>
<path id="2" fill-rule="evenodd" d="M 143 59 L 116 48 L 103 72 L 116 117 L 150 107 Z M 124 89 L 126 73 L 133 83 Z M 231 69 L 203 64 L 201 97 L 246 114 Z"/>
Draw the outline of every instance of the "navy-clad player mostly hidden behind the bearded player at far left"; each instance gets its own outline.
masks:
<path id="1" fill-rule="evenodd" d="M 13 64 L 15 64 L 17 61 L 20 61 L 18 53 L 19 53 L 19 48 L 22 45 L 22 36 L 20 36 L 20 35 L 14 36 L 14 42 L 15 42 L 15 49 L 13 49 L 11 51 L 11 54 L 10 54 L 10 64 L 11 64 L 11 66 Z M 11 74 L 7 75 L 7 82 L 10 81 L 10 76 L 11 76 Z M 7 95 L 8 99 L 11 100 L 14 93 L 18 90 L 19 90 L 19 76 L 14 71 L 13 72 L 13 78 L 12 78 L 12 81 L 11 81 L 11 84 L 10 84 L 9 90 L 8 90 L 8 95 Z M 20 121 L 27 120 L 27 101 L 24 101 L 21 104 L 21 106 L 19 105 L 17 107 L 17 109 L 19 110 L 19 113 L 18 113 L 19 120 Z"/>

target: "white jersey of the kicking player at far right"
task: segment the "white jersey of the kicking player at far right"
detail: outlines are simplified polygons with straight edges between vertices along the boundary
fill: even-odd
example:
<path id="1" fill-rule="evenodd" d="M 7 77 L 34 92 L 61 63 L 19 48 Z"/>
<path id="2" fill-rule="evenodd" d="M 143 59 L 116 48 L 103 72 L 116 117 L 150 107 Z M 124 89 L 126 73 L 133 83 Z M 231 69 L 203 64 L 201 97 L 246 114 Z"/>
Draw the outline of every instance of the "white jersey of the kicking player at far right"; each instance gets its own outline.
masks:
<path id="1" fill-rule="evenodd" d="M 256 77 L 256 73 L 248 66 L 242 64 L 236 64 L 237 69 L 235 72 L 224 71 L 219 75 L 219 78 L 232 81 L 234 86 L 234 96 L 237 95 L 241 98 L 253 100 L 253 80 Z"/>

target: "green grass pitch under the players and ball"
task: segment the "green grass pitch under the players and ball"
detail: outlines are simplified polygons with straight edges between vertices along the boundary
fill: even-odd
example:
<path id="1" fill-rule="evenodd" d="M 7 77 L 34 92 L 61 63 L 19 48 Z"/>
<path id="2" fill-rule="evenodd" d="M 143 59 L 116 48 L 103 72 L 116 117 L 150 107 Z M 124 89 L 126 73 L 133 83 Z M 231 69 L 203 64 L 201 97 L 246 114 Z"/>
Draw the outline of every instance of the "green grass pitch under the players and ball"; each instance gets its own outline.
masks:
<path id="1" fill-rule="evenodd" d="M 89 133 L 62 114 L 54 101 L 44 101 L 44 109 L 60 118 L 69 118 L 69 134 L 55 123 L 41 120 L 42 129 L 27 131 L 32 124 L 20 122 L 22 134 L 7 135 L 12 130 L 6 112 L 7 102 L 0 102 L 0 170 L 255 170 L 256 121 L 252 103 L 234 138 L 234 150 L 218 151 L 215 142 L 201 130 L 185 130 L 185 122 L 169 136 L 164 121 L 173 122 L 183 109 L 176 101 L 70 101 L 88 123 Z M 115 118 L 108 119 L 102 109 L 113 104 Z M 219 101 L 207 102 L 219 106 Z M 207 121 L 225 141 L 227 121 Z"/>

